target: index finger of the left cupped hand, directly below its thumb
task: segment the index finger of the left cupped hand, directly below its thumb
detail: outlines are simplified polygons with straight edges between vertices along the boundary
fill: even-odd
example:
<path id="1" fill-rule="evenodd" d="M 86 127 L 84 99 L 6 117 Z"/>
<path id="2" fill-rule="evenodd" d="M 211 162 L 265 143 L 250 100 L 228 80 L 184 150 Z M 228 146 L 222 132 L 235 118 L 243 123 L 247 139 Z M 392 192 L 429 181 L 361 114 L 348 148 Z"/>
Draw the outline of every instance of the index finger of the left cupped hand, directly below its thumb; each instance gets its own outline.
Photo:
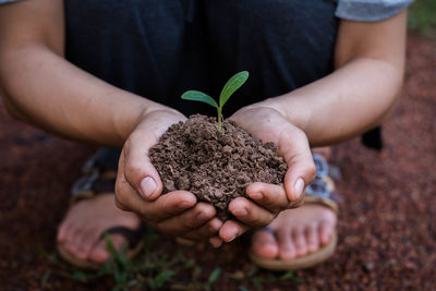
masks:
<path id="1" fill-rule="evenodd" d="M 196 197 L 186 191 L 173 191 L 146 202 L 136 194 L 126 181 L 116 183 L 116 204 L 122 210 L 133 211 L 148 222 L 158 222 L 178 215 L 195 205 Z"/>

